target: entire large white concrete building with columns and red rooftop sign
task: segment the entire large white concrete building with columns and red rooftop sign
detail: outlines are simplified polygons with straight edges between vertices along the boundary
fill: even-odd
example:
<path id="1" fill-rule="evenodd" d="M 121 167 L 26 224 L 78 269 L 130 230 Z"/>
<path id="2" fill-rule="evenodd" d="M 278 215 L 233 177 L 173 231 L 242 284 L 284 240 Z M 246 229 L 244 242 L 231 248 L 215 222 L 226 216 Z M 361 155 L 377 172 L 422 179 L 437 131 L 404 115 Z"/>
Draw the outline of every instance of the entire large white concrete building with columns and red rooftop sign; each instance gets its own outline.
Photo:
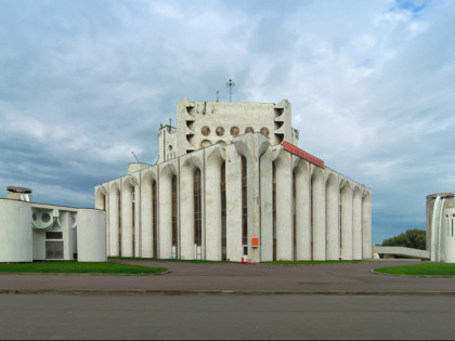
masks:
<path id="1" fill-rule="evenodd" d="M 289 102 L 190 102 L 157 165 L 95 187 L 108 255 L 257 263 L 372 258 L 372 193 L 296 147 Z"/>

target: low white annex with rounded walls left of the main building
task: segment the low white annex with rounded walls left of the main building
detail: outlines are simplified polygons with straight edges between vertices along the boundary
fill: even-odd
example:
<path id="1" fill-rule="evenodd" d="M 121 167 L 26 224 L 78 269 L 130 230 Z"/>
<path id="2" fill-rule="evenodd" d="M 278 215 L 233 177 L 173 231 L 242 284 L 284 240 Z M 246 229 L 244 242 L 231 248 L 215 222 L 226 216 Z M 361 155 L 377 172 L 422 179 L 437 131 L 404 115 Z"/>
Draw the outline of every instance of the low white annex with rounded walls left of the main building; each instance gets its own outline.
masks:
<path id="1" fill-rule="evenodd" d="M 0 199 L 0 263 L 106 261 L 106 212 L 31 202 L 31 191 L 8 187 Z"/>

